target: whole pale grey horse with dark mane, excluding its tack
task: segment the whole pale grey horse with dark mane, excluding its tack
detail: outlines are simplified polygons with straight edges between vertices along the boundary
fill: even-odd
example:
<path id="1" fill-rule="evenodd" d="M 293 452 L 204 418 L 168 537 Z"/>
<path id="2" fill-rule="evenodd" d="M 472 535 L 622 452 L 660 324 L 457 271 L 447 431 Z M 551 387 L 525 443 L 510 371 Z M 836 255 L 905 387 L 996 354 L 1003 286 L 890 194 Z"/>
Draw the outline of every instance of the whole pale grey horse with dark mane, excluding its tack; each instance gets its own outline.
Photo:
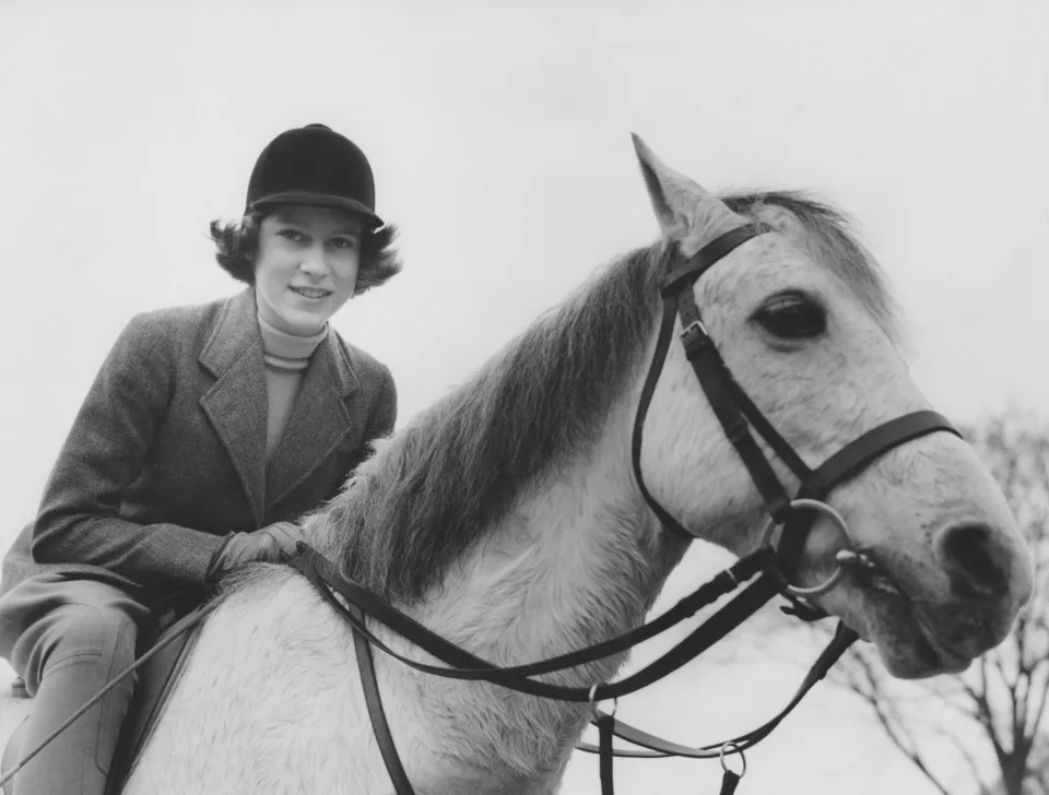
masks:
<path id="1" fill-rule="evenodd" d="M 755 221 L 774 229 L 706 273 L 695 300 L 736 381 L 809 465 L 928 407 L 898 353 L 879 270 L 837 213 L 789 193 L 721 200 L 640 142 L 637 152 L 663 239 L 615 262 L 381 442 L 304 520 L 311 544 L 350 577 L 498 664 L 638 626 L 686 549 L 646 506 L 630 462 L 660 277 L 676 257 Z M 653 496 L 695 535 L 735 554 L 757 545 L 762 500 L 679 345 L 652 397 L 640 464 Z M 910 441 L 829 501 L 904 595 L 846 576 L 815 601 L 875 643 L 891 672 L 959 671 L 1005 637 L 1030 593 L 1030 559 L 968 444 L 948 434 Z M 801 584 L 825 579 L 844 543 L 818 521 Z M 624 661 L 549 680 L 609 681 Z M 427 676 L 381 653 L 376 666 L 419 795 L 554 792 L 590 714 Z M 125 790 L 390 791 L 351 630 L 297 572 L 264 565 L 235 576 L 207 619 Z"/>

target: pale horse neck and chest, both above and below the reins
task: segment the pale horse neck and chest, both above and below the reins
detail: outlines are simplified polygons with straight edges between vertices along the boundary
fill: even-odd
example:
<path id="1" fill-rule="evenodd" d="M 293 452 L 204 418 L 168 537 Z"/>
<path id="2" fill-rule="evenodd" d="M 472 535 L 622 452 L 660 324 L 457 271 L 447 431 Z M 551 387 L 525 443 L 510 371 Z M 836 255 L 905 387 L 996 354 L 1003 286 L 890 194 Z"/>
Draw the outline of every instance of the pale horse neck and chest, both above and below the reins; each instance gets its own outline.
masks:
<path id="1" fill-rule="evenodd" d="M 632 419 L 633 406 L 610 412 L 594 443 L 538 478 L 440 585 L 405 612 L 497 665 L 582 649 L 638 626 L 685 545 L 658 531 L 634 485 Z M 543 678 L 609 681 L 625 658 Z M 386 675 L 381 685 L 397 690 L 425 724 L 416 731 L 434 766 L 455 759 L 458 771 L 474 771 L 465 775 L 487 771 L 465 787 L 476 792 L 552 791 L 589 716 L 586 704 L 476 683 L 422 681 L 396 668 Z"/>

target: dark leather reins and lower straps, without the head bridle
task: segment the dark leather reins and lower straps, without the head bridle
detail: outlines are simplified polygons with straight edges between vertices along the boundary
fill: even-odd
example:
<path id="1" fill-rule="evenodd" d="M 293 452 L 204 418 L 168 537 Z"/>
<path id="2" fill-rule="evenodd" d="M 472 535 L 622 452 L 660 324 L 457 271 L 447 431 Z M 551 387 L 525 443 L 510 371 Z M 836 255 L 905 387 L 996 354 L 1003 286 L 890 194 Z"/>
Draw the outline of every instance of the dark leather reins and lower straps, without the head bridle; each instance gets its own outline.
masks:
<path id="1" fill-rule="evenodd" d="M 739 754 L 742 756 L 745 750 L 752 748 L 768 736 L 801 702 L 805 693 L 808 693 L 820 679 L 826 676 L 830 666 L 834 665 L 858 637 L 851 629 L 848 629 L 845 625 L 840 625 L 834 640 L 830 641 L 830 644 L 813 664 L 794 697 L 771 720 L 754 731 L 734 737 L 733 739 L 702 746 L 699 748 L 692 748 L 676 743 L 670 743 L 635 728 L 623 721 L 617 721 L 614 717 L 614 710 L 612 714 L 601 712 L 597 709 L 597 702 L 604 699 L 613 699 L 613 701 L 615 701 L 620 696 L 628 696 L 662 679 L 724 638 L 729 632 L 756 613 L 770 598 L 781 593 L 786 582 L 778 572 L 775 553 L 769 547 L 762 547 L 757 551 L 741 558 L 731 568 L 726 569 L 712 580 L 700 585 L 658 618 L 652 619 L 637 629 L 586 649 L 534 663 L 508 667 L 499 667 L 482 660 L 429 629 L 426 629 L 357 583 L 342 577 L 329 560 L 317 553 L 310 550 L 293 558 L 288 561 L 288 565 L 298 569 L 298 571 L 313 583 L 323 600 L 353 628 L 357 666 L 362 683 L 364 683 L 365 700 L 368 704 L 373 729 L 375 731 L 379 751 L 386 762 L 397 795 L 414 795 L 415 791 L 412 788 L 404 773 L 403 766 L 401 764 L 400 757 L 393 744 L 389 724 L 386 720 L 386 712 L 382 708 L 381 697 L 375 678 L 372 646 L 379 649 L 398 662 L 415 671 L 433 676 L 460 680 L 484 680 L 540 698 L 588 703 L 593 714 L 591 723 L 593 723 L 599 731 L 600 746 L 594 747 L 586 743 L 580 743 L 576 747 L 579 750 L 596 752 L 601 756 L 602 794 L 612 795 L 612 756 L 634 758 L 672 756 L 691 757 L 693 759 L 720 758 L 722 767 L 724 768 L 724 781 L 731 781 L 734 776 L 738 782 L 741 775 L 734 773 L 726 766 L 726 756 L 729 754 Z M 686 620 L 695 615 L 700 607 L 716 602 L 724 594 L 731 593 L 751 579 L 753 579 L 753 582 L 745 585 L 742 593 L 738 594 L 728 605 L 715 613 L 697 629 L 693 630 L 684 640 L 646 667 L 624 679 L 611 684 L 597 684 L 588 688 L 555 685 L 531 678 L 542 674 L 573 668 L 626 651 Z M 339 596 L 345 601 L 345 604 L 339 600 Z M 446 665 L 420 663 L 393 651 L 368 629 L 366 616 L 385 624 L 389 629 L 411 641 L 414 645 Z M 648 750 L 614 750 L 611 746 L 613 735 Z M 731 792 L 731 790 L 722 790 L 724 795 L 728 795 L 729 792 Z"/>

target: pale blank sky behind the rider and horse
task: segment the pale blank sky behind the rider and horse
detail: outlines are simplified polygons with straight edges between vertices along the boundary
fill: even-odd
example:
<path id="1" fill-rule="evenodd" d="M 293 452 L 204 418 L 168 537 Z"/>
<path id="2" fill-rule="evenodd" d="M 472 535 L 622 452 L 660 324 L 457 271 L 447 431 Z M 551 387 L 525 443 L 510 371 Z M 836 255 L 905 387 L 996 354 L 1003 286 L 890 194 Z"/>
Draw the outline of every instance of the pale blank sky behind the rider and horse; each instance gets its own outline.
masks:
<path id="1" fill-rule="evenodd" d="M 404 272 L 334 324 L 390 366 L 402 422 L 655 239 L 632 131 L 708 188 L 850 213 L 933 404 L 1040 412 L 1047 40 L 1044 0 L 0 0 L 0 542 L 129 318 L 237 290 L 208 222 L 236 218 L 261 149 L 310 122 L 364 149 L 401 229 Z M 719 561 L 697 548 L 669 591 Z M 794 653 L 697 663 L 623 714 L 681 741 L 747 728 L 816 650 Z M 830 689 L 750 762 L 751 793 L 931 792 Z M 626 795 L 719 782 L 716 763 L 617 771 Z M 564 792 L 598 791 L 574 762 Z"/>

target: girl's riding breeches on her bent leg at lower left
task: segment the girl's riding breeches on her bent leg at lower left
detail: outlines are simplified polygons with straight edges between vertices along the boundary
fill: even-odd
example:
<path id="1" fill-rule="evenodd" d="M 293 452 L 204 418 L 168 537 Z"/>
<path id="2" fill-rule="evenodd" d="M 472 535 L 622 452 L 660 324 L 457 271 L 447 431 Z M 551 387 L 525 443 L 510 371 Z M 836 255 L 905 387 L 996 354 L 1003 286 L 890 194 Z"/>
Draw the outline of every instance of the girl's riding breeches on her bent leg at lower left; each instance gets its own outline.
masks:
<path id="1" fill-rule="evenodd" d="M 0 651 L 34 697 L 25 754 L 134 662 L 149 610 L 115 585 L 52 573 L 19 583 L 3 607 Z M 15 615 L 32 618 L 15 627 Z M 129 676 L 50 741 L 15 776 L 16 795 L 103 795 L 134 686 Z"/>

